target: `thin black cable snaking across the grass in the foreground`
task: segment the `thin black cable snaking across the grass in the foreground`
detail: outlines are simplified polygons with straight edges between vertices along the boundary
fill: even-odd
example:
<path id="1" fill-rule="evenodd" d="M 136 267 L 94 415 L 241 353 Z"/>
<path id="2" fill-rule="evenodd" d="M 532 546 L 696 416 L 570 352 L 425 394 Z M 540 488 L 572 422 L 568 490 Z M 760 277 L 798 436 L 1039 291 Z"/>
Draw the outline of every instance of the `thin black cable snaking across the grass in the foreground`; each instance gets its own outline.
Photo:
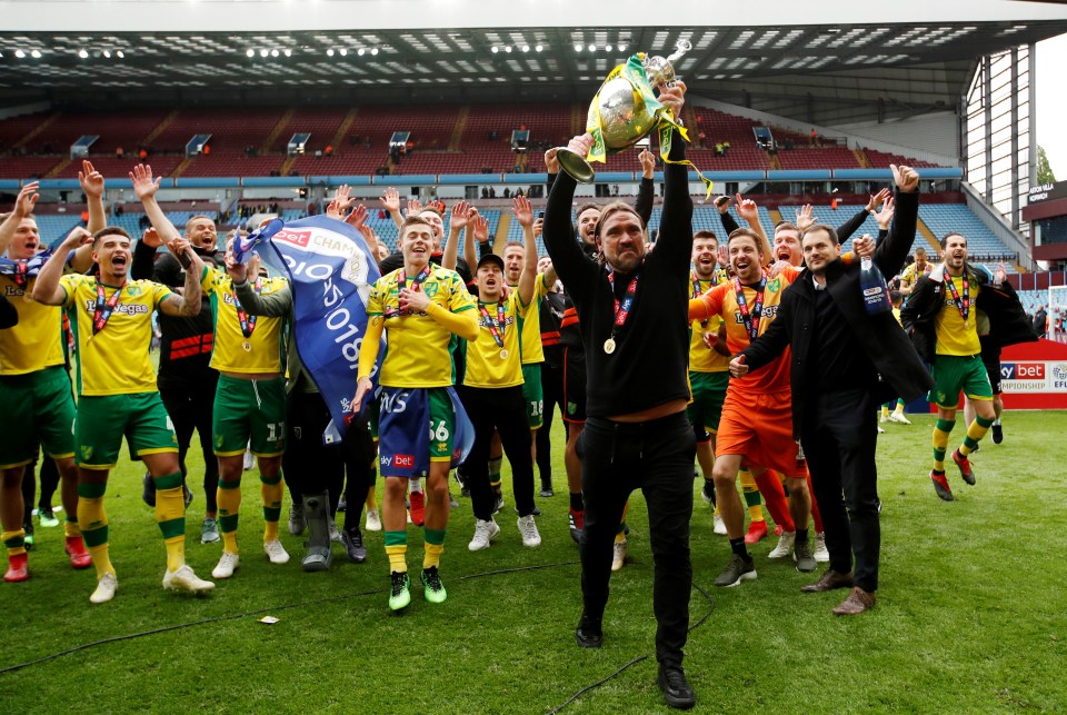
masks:
<path id="1" fill-rule="evenodd" d="M 472 578 L 485 578 L 485 577 L 487 577 L 487 576 L 499 576 L 499 575 L 503 575 L 503 574 L 517 574 L 517 573 L 519 573 L 519 572 L 541 570 L 541 569 L 545 569 L 545 568 L 555 568 L 555 567 L 557 567 L 557 566 L 574 566 L 575 564 L 578 564 L 578 563 L 579 563 L 579 562 L 558 562 L 558 563 L 555 563 L 555 564 L 538 564 L 538 565 L 535 565 L 535 566 L 520 566 L 520 567 L 517 567 L 517 568 L 500 568 L 500 569 L 497 569 L 497 570 L 483 572 L 483 573 L 480 573 L 480 574 L 467 574 L 466 576 L 458 576 L 458 577 L 456 578 L 456 580 L 469 580 L 469 579 L 472 579 Z M 689 626 L 689 632 L 690 632 L 690 633 L 691 633 L 692 630 L 699 628 L 700 626 L 702 626 L 704 623 L 705 623 L 708 618 L 711 617 L 711 613 L 715 610 L 715 599 L 711 598 L 711 595 L 708 594 L 708 592 L 706 592 L 704 588 L 701 588 L 699 584 L 694 583 L 694 584 L 692 584 L 692 587 L 696 588 L 698 592 L 700 592 L 700 594 L 708 600 L 708 603 L 711 604 L 711 608 L 710 608 L 706 614 L 704 614 L 704 616 L 701 616 L 700 619 L 697 620 L 697 623 L 695 623 L 695 624 L 692 624 L 691 626 Z M 255 610 L 246 610 L 245 613 L 230 614 L 230 615 L 228 615 L 228 616 L 215 616 L 215 617 L 212 617 L 212 618 L 201 618 L 200 620 L 190 620 L 189 623 L 179 623 L 179 624 L 174 624 L 174 625 L 172 625 L 172 626 L 163 626 L 163 627 L 161 627 L 161 628 L 152 628 L 151 630 L 141 630 L 141 632 L 139 632 L 139 633 L 130 633 L 130 634 L 127 634 L 127 635 L 123 635 L 123 636 L 112 636 L 112 637 L 110 637 L 110 638 L 101 638 L 100 640 L 92 640 L 92 642 L 90 642 L 90 643 L 82 643 L 81 645 L 77 645 L 77 646 L 73 646 L 73 647 L 71 647 L 71 648 L 67 648 L 67 649 L 64 649 L 64 651 L 59 651 L 59 652 L 57 652 L 57 653 L 51 653 L 51 654 L 49 654 L 49 655 L 44 655 L 44 656 L 41 656 L 41 657 L 39 657 L 39 658 L 34 658 L 34 659 L 32 659 L 32 661 L 27 661 L 27 662 L 24 662 L 24 663 L 17 663 L 17 664 L 14 664 L 14 665 L 9 665 L 9 666 L 6 666 L 6 667 L 2 667 L 2 668 L 0 668 L 0 675 L 6 675 L 6 674 L 8 674 L 8 673 L 14 673 L 16 671 L 21 671 L 21 669 L 23 669 L 23 668 L 28 668 L 28 667 L 33 666 L 33 665 L 40 665 L 41 663 L 47 663 L 47 662 L 49 662 L 49 661 L 54 661 L 56 658 L 62 657 L 62 656 L 64 656 L 64 655 L 71 655 L 71 654 L 78 653 L 78 652 L 80 652 L 80 651 L 88 651 L 89 648 L 93 648 L 93 647 L 101 646 L 101 645 L 107 645 L 107 644 L 109 644 L 109 643 L 120 643 L 120 642 L 122 642 L 122 640 L 133 640 L 133 639 L 136 639 L 136 638 L 143 638 L 143 637 L 146 637 L 146 636 L 153 636 L 153 635 L 158 635 L 158 634 L 160 634 L 160 633 L 168 633 L 168 632 L 170 632 L 170 630 L 180 630 L 180 629 L 182 629 L 182 628 L 190 628 L 190 627 L 192 627 L 192 626 L 203 626 L 203 625 L 208 625 L 208 624 L 210 624 L 210 623 L 222 623 L 222 622 L 226 622 L 226 620 L 238 620 L 238 619 L 240 619 L 240 618 L 248 618 L 249 616 L 258 616 L 258 615 L 260 615 L 260 614 L 266 614 L 266 613 L 278 613 L 278 612 L 280 612 L 280 610 L 290 610 L 290 609 L 292 609 L 292 608 L 301 608 L 301 607 L 305 607 L 305 606 L 316 606 L 316 605 L 319 605 L 319 604 L 327 604 L 327 603 L 332 603 L 332 602 L 337 602 L 337 600 L 347 600 L 347 599 L 349 599 L 349 598 L 361 598 L 361 597 L 363 597 L 363 596 L 373 596 L 373 595 L 376 595 L 376 594 L 385 594 L 385 593 L 389 593 L 389 589 L 388 589 L 388 588 L 376 588 L 376 589 L 373 589 L 373 590 L 360 590 L 360 592 L 356 592 L 356 593 L 352 593 L 352 594 L 343 594 L 343 595 L 341 595 L 341 596 L 328 596 L 328 597 L 326 597 L 326 598 L 316 598 L 315 600 L 302 600 L 302 602 L 299 602 L 299 603 L 285 604 L 285 605 L 281 605 L 281 606 L 270 606 L 270 607 L 267 607 L 267 608 L 257 608 L 257 609 L 255 609 Z M 588 692 L 590 692 L 590 691 L 594 691 L 594 689 L 600 687 L 600 686 L 604 685 L 605 683 L 607 683 L 607 682 L 609 682 L 609 681 L 618 677 L 618 676 L 619 676 L 622 672 L 625 672 L 627 668 L 630 668 L 630 667 L 637 665 L 638 663 L 641 663 L 642 661 L 647 661 L 648 658 L 649 658 L 648 654 L 638 656 L 638 657 L 634 658 L 632 661 L 630 661 L 629 663 L 627 663 L 626 665 L 624 665 L 622 667 L 620 667 L 619 669 L 617 669 L 615 673 L 611 673 L 610 675 L 608 675 L 606 678 L 604 678 L 604 679 L 601 679 L 601 681 L 598 681 L 598 682 L 596 682 L 596 683 L 592 683 L 592 684 L 590 684 L 590 685 L 585 686 L 584 688 L 581 688 L 580 691 L 578 691 L 577 693 L 575 693 L 574 695 L 571 695 L 569 698 L 567 698 L 567 701 L 565 701 L 561 705 L 559 705 L 559 706 L 557 706 L 556 708 L 549 711 L 549 715 L 554 715 L 555 713 L 559 713 L 561 709 L 564 709 L 565 707 L 567 707 L 568 705 L 570 705 L 571 703 L 574 703 L 575 701 L 577 701 L 579 697 L 581 697 L 581 696 L 585 695 L 586 693 L 588 693 Z"/>

